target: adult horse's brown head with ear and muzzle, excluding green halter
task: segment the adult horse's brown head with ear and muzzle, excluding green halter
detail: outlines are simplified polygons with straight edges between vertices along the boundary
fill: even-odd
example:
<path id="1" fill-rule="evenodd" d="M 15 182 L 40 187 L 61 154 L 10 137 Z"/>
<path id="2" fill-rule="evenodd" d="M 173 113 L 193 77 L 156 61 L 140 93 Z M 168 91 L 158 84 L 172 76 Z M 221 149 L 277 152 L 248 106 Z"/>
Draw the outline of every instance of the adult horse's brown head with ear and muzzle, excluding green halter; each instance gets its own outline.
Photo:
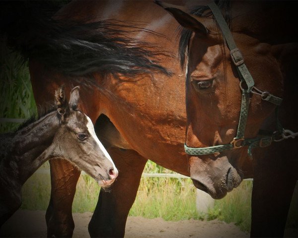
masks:
<path id="1" fill-rule="evenodd" d="M 205 17 L 198 17 L 186 13 L 181 7 L 159 4 L 184 28 L 190 30 L 185 44 L 186 146 L 211 147 L 209 152 L 189 156 L 190 175 L 197 188 L 219 199 L 240 184 L 246 172 L 244 165 L 251 164 L 247 146 L 242 146 L 242 140 L 236 141 L 231 148 L 239 123 L 241 88 L 246 88 L 247 85 L 242 83 L 239 86 L 239 75 L 230 50 L 224 44 L 220 27 L 208 7 L 203 12 Z M 249 28 L 249 22 L 242 22 L 243 27 L 238 29 L 240 26 L 237 22 L 235 28 L 239 32 L 234 33 L 233 37 L 255 80 L 255 86 L 280 96 L 282 75 L 271 52 L 271 46 L 260 43 L 258 36 L 252 37 L 255 29 Z M 252 32 L 249 32 L 250 30 Z M 263 101 L 259 95 L 248 95 L 250 104 L 246 128 L 244 127 L 243 131 L 244 138 L 247 139 L 256 137 L 262 122 L 275 108 L 275 105 Z M 218 151 L 217 146 L 220 145 L 227 145 L 226 148 L 229 149 Z"/>

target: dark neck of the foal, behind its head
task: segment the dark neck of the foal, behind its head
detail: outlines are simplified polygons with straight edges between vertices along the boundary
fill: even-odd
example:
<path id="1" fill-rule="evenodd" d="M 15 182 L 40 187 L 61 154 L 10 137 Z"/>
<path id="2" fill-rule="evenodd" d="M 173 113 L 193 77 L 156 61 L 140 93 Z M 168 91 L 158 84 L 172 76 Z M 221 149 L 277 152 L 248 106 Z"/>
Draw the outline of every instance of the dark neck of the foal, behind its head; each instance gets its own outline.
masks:
<path id="1" fill-rule="evenodd" d="M 13 176 L 23 184 L 51 154 L 54 135 L 59 126 L 56 112 L 1 138 L 1 177 Z M 5 141 L 6 140 L 6 141 Z"/>

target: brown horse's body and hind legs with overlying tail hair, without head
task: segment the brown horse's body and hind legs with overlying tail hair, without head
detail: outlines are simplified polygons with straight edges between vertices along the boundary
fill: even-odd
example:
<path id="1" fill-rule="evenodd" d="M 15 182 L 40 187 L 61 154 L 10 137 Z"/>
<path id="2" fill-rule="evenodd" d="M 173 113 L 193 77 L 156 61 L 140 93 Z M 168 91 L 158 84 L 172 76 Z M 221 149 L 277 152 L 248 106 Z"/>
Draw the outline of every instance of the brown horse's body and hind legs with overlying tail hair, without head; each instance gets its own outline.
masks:
<path id="1" fill-rule="evenodd" d="M 95 123 L 99 139 L 119 170 L 110 191 L 100 191 L 89 233 L 123 237 L 147 160 L 189 176 L 183 149 L 185 75 L 175 41 L 178 24 L 151 1 L 74 1 L 57 18 L 93 23 L 60 23 L 59 29 L 70 26 L 61 31 L 62 40 L 53 33 L 53 40 L 47 41 L 60 43 L 55 45 L 60 49 L 56 55 L 52 53 L 47 61 L 44 56 L 56 49 L 47 50 L 47 44 L 43 54 L 31 55 L 34 97 L 38 105 L 44 105 L 57 85 L 81 86 L 82 102 L 88 103 L 79 107 Z M 172 76 L 164 68 L 170 68 Z M 62 160 L 50 161 L 50 166 L 48 236 L 71 237 L 72 202 L 80 173 Z"/>

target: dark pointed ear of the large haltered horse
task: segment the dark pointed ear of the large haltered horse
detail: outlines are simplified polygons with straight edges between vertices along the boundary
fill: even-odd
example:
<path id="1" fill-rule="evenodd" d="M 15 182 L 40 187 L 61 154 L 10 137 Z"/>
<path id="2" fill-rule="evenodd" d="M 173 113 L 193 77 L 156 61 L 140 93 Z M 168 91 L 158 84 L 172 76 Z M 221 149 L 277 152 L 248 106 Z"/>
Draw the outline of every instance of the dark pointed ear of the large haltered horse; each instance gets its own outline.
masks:
<path id="1" fill-rule="evenodd" d="M 183 6 L 176 6 L 157 0 L 155 0 L 154 2 L 168 11 L 181 26 L 196 32 L 202 37 L 207 36 L 207 28 L 195 17 L 186 13 L 186 8 L 184 8 Z"/>

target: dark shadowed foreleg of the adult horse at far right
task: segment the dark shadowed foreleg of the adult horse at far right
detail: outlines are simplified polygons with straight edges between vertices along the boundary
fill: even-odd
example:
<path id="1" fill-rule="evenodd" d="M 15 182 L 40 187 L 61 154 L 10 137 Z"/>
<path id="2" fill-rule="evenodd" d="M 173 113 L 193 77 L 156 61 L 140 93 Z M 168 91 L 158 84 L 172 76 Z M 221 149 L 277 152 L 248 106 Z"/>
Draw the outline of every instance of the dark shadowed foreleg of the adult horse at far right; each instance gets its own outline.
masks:
<path id="1" fill-rule="evenodd" d="M 297 168 L 294 163 L 287 161 L 291 158 L 287 156 L 287 150 L 281 156 L 276 148 L 271 146 L 270 149 L 271 152 L 266 156 L 254 159 L 251 237 L 284 236 L 297 181 Z"/>

